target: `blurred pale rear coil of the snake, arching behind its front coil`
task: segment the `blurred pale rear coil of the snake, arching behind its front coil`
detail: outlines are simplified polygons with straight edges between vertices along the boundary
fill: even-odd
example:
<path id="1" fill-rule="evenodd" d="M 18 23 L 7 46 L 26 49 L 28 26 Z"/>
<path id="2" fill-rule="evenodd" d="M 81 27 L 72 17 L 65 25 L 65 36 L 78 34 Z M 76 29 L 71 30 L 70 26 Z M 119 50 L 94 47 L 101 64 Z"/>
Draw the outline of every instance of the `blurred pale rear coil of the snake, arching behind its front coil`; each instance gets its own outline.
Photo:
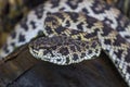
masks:
<path id="1" fill-rule="evenodd" d="M 106 4 L 102 0 L 49 0 L 39 5 L 16 25 L 15 30 L 8 37 L 5 45 L 0 50 L 0 58 L 4 58 L 15 48 L 29 42 L 32 38 L 42 34 L 43 22 L 48 13 L 58 11 L 83 12 L 95 17 L 116 29 L 130 42 L 130 22 L 117 9 Z M 77 28 L 73 27 L 72 28 Z M 80 25 L 79 25 L 80 27 Z"/>

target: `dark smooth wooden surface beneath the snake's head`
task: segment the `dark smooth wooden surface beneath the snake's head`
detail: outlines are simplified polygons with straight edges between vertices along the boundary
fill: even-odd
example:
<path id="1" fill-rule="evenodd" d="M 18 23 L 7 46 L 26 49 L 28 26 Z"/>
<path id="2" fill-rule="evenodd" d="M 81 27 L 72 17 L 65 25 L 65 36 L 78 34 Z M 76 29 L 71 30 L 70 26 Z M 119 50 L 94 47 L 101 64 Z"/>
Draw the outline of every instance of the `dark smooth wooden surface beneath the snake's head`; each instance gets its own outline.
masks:
<path id="1" fill-rule="evenodd" d="M 0 87 L 128 87 L 103 52 L 91 61 L 58 66 L 34 59 L 27 47 L 1 61 L 0 83 Z"/>

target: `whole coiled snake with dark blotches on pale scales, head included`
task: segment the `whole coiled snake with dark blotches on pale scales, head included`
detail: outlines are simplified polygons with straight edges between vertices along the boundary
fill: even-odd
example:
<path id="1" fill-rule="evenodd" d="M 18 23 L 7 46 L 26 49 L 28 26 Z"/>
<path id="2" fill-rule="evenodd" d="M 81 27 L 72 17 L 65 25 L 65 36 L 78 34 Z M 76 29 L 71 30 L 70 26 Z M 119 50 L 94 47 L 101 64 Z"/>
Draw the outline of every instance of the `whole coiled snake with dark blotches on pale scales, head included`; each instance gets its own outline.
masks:
<path id="1" fill-rule="evenodd" d="M 79 15 L 77 13 L 81 14 L 79 18 L 76 18 L 77 16 L 72 18 L 69 17 L 70 15 L 69 13 L 58 12 L 73 12 L 70 14 L 75 15 Z M 86 15 L 86 17 L 82 16 L 82 14 Z M 54 25 L 56 26 L 51 26 L 52 24 L 50 23 L 52 21 L 50 22 L 48 15 L 53 16 L 51 17 L 51 20 L 54 18 L 54 22 L 56 22 L 54 23 Z M 61 15 L 66 16 L 65 20 L 62 20 L 64 17 L 62 17 Z M 55 21 L 56 17 L 58 20 Z M 84 28 L 86 26 L 90 29 Z M 61 34 L 61 32 L 63 34 Z M 130 87 L 129 78 L 130 21 L 123 14 L 121 14 L 121 12 L 116 8 L 106 4 L 102 0 L 49 0 L 43 4 L 39 5 L 38 8 L 34 9 L 32 11 L 30 11 L 28 15 L 24 17 L 22 22 L 20 22 L 15 26 L 14 32 L 12 32 L 12 34 L 8 37 L 5 45 L 0 49 L 0 59 L 6 57 L 15 48 L 31 41 L 32 38 L 37 38 L 39 35 L 49 37 L 48 41 L 51 40 L 53 45 L 51 45 L 50 42 L 47 42 L 49 45 L 46 45 L 46 47 L 41 45 L 42 42 L 44 45 L 44 41 L 40 42 L 40 40 L 46 40 L 47 37 L 38 38 L 39 41 L 37 41 L 38 39 L 36 39 L 35 42 L 31 42 L 29 45 L 30 53 L 35 58 L 42 59 L 43 49 L 44 50 L 49 49 L 50 53 L 46 53 L 44 55 L 52 57 L 53 54 L 57 54 L 57 57 L 55 58 L 53 55 L 55 60 L 53 59 L 42 60 L 60 65 L 64 64 L 67 65 L 99 57 L 101 50 L 104 50 L 109 55 L 109 58 L 116 65 L 117 70 L 120 72 L 121 76 L 125 78 L 125 80 L 128 83 Z M 66 38 L 66 41 L 63 41 L 64 38 Z M 58 41 L 55 42 L 54 39 L 57 39 Z M 84 47 L 81 46 L 82 44 L 84 45 Z M 36 46 L 35 48 L 37 48 L 37 50 L 35 51 L 34 46 Z M 42 48 L 41 50 L 39 50 L 40 46 Z M 51 48 L 51 50 L 50 46 L 53 47 Z M 62 50 L 65 47 L 67 49 L 69 49 L 70 47 L 76 48 L 77 51 L 74 52 L 68 50 L 70 54 L 67 53 L 67 55 L 63 55 L 61 53 L 62 51 L 60 52 L 60 50 Z M 58 50 L 55 51 L 55 49 Z M 64 53 L 68 51 L 64 51 Z M 37 52 L 39 53 L 37 54 Z M 64 59 L 61 59 L 62 55 L 58 54 L 62 54 Z M 66 57 L 68 57 L 69 60 L 66 59 Z M 72 60 L 73 57 L 76 57 L 77 59 L 74 58 L 76 59 L 74 61 Z M 79 57 L 82 59 L 78 59 Z M 61 60 L 63 62 L 61 62 Z"/>

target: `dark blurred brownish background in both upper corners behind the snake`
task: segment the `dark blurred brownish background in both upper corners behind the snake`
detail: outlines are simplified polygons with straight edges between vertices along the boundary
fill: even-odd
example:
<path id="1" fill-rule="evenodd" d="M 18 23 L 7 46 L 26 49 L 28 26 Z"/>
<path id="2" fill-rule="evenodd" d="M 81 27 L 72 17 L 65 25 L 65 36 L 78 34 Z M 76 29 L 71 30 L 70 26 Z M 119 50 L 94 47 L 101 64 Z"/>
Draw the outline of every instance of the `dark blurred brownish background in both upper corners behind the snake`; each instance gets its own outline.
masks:
<path id="1" fill-rule="evenodd" d="M 6 36 L 27 13 L 46 0 L 0 0 L 0 47 Z M 130 0 L 104 0 L 130 18 Z"/>

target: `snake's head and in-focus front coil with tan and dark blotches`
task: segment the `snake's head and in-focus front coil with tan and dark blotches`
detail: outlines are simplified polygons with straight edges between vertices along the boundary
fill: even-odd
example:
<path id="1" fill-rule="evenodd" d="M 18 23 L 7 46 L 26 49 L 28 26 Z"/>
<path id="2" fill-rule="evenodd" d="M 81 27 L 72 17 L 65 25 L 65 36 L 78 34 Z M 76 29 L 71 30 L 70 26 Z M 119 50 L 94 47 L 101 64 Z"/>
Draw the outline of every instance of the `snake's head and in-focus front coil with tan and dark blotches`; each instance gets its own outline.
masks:
<path id="1" fill-rule="evenodd" d="M 81 24 L 81 29 L 69 28 Z M 68 27 L 67 27 L 68 26 Z M 29 44 L 30 53 L 40 60 L 69 65 L 98 58 L 103 50 L 130 86 L 130 42 L 120 34 L 83 13 L 50 13 L 44 20 L 44 35 Z"/>

